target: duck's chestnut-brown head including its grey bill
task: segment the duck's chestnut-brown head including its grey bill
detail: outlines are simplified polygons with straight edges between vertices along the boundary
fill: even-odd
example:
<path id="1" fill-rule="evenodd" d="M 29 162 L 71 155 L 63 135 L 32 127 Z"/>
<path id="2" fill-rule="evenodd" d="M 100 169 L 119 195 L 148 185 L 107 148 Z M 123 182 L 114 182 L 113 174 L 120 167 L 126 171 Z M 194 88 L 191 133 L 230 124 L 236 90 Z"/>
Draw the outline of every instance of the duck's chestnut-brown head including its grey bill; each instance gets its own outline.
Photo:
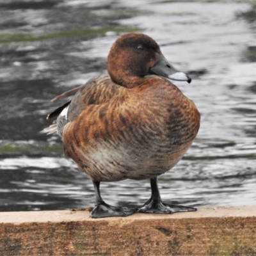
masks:
<path id="1" fill-rule="evenodd" d="M 136 86 L 143 77 L 152 74 L 191 82 L 189 76 L 175 69 L 164 58 L 152 38 L 140 33 L 120 36 L 111 47 L 107 65 L 111 79 L 127 88 Z"/>

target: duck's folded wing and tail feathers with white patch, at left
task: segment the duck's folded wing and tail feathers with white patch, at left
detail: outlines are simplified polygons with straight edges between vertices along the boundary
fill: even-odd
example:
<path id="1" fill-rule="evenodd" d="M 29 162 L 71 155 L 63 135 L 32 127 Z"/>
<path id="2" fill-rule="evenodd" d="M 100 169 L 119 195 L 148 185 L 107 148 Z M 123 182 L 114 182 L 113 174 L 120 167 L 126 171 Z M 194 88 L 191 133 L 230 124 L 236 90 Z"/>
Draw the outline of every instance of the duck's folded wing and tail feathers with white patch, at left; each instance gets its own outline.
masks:
<path id="1" fill-rule="evenodd" d="M 90 105 L 104 104 L 118 94 L 120 86 L 113 83 L 108 75 L 95 77 L 90 79 L 84 86 L 80 86 L 58 95 L 53 100 L 63 99 L 73 96 L 71 100 L 54 109 L 47 119 L 57 118 L 50 127 L 46 128 L 46 132 L 53 133 L 58 131 L 62 136 L 64 126 L 77 118 Z"/>

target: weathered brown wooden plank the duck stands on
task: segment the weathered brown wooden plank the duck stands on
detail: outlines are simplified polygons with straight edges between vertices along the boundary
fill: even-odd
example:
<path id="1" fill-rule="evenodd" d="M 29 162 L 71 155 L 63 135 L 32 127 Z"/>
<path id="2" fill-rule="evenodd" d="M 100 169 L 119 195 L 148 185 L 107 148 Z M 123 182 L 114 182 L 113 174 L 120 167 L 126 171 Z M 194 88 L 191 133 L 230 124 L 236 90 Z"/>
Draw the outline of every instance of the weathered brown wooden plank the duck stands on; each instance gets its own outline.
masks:
<path id="1" fill-rule="evenodd" d="M 256 206 L 92 219 L 0 212 L 0 255 L 256 255 Z"/>

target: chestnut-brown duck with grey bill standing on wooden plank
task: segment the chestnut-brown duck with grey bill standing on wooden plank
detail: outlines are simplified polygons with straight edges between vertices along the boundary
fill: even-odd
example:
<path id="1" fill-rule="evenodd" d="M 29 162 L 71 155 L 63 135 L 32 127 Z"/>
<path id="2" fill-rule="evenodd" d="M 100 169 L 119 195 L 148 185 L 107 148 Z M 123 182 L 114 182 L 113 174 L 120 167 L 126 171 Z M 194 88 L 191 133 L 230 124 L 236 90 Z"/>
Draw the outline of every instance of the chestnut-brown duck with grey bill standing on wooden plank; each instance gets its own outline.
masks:
<path id="1" fill-rule="evenodd" d="M 184 156 L 200 127 L 195 104 L 170 81 L 191 83 L 191 78 L 173 67 L 156 41 L 143 33 L 118 37 L 107 69 L 108 74 L 52 99 L 69 100 L 47 116 L 56 118 L 49 133 L 60 135 L 65 157 L 93 182 L 90 216 L 196 211 L 163 202 L 157 184 L 157 177 Z M 116 207 L 102 199 L 101 182 L 125 179 L 150 180 L 151 196 L 141 207 Z"/>

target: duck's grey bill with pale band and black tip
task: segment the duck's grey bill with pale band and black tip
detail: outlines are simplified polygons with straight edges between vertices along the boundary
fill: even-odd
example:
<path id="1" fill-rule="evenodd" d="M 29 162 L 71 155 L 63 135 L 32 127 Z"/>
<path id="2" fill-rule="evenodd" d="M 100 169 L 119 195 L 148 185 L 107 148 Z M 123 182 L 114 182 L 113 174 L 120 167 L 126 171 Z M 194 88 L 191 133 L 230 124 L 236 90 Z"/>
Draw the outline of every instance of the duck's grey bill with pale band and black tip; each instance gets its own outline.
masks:
<path id="1" fill-rule="evenodd" d="M 157 76 L 167 77 L 175 81 L 187 81 L 191 83 L 191 78 L 185 73 L 180 72 L 174 68 L 163 56 L 156 53 L 156 63 L 153 67 L 150 68 L 152 74 Z"/>

